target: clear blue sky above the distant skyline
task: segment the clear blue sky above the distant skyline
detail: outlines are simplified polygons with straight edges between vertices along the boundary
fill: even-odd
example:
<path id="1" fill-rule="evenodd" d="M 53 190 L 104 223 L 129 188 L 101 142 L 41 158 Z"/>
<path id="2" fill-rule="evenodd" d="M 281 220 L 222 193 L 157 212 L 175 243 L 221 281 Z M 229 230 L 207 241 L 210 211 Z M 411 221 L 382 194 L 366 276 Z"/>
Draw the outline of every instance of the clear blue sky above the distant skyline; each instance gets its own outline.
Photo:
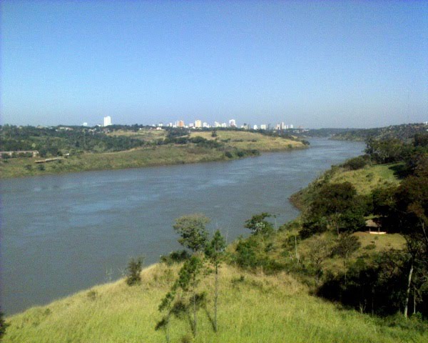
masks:
<path id="1" fill-rule="evenodd" d="M 428 1 L 2 0 L 1 124 L 428 120 Z"/>

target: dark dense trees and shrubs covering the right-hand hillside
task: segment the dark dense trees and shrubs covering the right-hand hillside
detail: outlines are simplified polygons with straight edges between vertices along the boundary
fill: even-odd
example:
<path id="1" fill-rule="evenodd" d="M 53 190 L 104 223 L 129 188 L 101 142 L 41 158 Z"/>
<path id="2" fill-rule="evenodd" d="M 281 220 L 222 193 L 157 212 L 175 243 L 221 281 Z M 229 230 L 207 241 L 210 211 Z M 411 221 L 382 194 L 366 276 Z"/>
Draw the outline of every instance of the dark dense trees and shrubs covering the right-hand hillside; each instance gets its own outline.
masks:
<path id="1" fill-rule="evenodd" d="M 333 167 L 295 194 L 302 217 L 294 228 L 289 224 L 283 230 L 294 232 L 309 247 L 308 260 L 284 267 L 302 279 L 312 275 L 313 292 L 361 312 L 427 317 L 427 140 L 428 134 L 416 134 L 408 144 L 369 139 L 365 156 Z M 385 168 L 394 172 L 396 181 L 379 178 Z M 374 186 L 360 187 L 357 173 L 365 173 L 366 184 L 374 179 Z M 367 230 L 366 219 L 387 234 L 361 249 L 355 240 L 361 236 L 355 232 Z M 402 247 L 376 249 L 378 240 L 394 234 L 403 237 Z M 343 266 L 337 266 L 338 257 Z"/>

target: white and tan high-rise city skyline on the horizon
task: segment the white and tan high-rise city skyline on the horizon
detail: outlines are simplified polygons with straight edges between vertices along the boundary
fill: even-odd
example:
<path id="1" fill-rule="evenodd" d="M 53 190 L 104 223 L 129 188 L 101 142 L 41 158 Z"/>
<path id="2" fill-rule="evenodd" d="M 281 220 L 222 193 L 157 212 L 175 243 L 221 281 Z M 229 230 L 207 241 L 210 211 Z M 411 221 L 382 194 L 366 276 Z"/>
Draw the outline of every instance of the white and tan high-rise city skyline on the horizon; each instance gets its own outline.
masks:
<path id="1" fill-rule="evenodd" d="M 82 124 L 83 126 L 88 126 L 88 123 L 84 122 Z M 103 120 L 103 125 L 98 124 L 98 126 L 110 126 L 113 125 L 111 122 L 111 116 L 105 116 Z M 182 129 L 211 129 L 211 128 L 240 128 L 240 129 L 246 129 L 246 130 L 287 130 L 287 129 L 294 129 L 293 124 L 285 124 L 284 121 L 277 123 L 275 125 L 271 124 L 241 124 L 238 126 L 235 119 L 230 119 L 228 123 L 221 123 L 220 121 L 214 121 L 214 124 L 208 124 L 206 121 L 202 121 L 200 119 L 196 119 L 194 123 L 188 123 L 185 124 L 183 120 L 178 120 L 175 122 L 169 122 L 167 124 L 165 123 L 158 123 L 158 124 L 151 124 L 151 126 L 156 127 L 157 129 L 162 129 L 163 127 L 173 127 L 173 128 L 182 128 Z M 302 126 L 297 126 L 297 129 L 302 129 Z"/>

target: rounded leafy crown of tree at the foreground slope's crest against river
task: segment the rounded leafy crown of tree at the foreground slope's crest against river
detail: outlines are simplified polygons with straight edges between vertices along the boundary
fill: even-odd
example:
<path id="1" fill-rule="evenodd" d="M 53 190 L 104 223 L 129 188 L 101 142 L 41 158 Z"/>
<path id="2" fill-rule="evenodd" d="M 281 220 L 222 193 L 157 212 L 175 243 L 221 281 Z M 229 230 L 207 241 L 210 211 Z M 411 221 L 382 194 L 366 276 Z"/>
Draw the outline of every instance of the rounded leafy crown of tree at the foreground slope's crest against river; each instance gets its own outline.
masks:
<path id="1" fill-rule="evenodd" d="M 175 219 L 173 228 L 180 235 L 178 242 L 192 252 L 201 252 L 205 248 L 208 232 L 205 225 L 210 222 L 203 214 L 189 214 Z"/>

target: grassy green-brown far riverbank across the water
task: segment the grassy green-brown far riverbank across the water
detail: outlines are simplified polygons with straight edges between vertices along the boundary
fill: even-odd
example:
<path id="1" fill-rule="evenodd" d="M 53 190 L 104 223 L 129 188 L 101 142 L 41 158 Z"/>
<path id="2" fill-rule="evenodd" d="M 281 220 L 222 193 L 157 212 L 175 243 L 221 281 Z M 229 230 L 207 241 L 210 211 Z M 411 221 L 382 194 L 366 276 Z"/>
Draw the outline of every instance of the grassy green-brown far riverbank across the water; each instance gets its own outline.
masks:
<path id="1" fill-rule="evenodd" d="M 243 131 L 219 131 L 216 137 L 210 135 L 210 132 L 198 132 L 192 134 L 192 137 L 203 136 L 205 138 L 207 136 L 205 139 L 219 141 L 222 146 L 210 147 L 194 143 L 153 145 L 128 151 L 76 154 L 46 163 L 36 163 L 40 158 L 2 159 L 0 161 L 0 178 L 228 161 L 246 156 L 257 156 L 263 152 L 307 147 L 301 141 Z M 138 134 L 133 136 L 138 136 Z"/>

